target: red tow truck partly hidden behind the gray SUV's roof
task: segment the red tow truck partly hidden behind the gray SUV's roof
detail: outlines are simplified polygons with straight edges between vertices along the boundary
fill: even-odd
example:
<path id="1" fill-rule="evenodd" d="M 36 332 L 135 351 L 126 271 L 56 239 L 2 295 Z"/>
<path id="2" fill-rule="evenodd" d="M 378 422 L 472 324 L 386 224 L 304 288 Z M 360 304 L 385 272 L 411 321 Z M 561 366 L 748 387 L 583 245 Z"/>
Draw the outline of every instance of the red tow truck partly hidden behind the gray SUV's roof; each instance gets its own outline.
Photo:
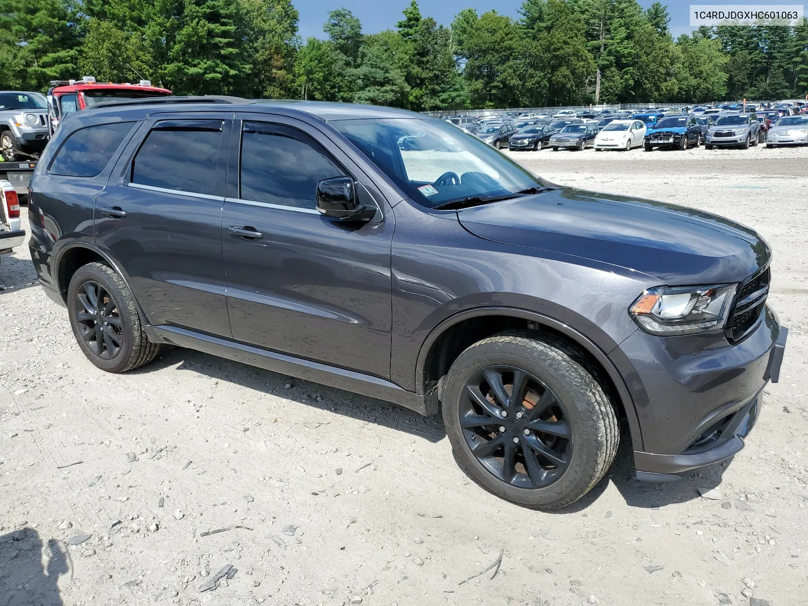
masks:
<path id="1" fill-rule="evenodd" d="M 96 103 L 120 101 L 121 99 L 145 99 L 147 97 L 167 97 L 171 91 L 159 86 L 151 86 L 148 80 L 137 84 L 113 84 L 95 82 L 93 76 L 81 80 L 53 80 L 48 90 L 48 123 L 51 134 L 59 127 L 59 122 L 71 112 L 81 112 Z"/>

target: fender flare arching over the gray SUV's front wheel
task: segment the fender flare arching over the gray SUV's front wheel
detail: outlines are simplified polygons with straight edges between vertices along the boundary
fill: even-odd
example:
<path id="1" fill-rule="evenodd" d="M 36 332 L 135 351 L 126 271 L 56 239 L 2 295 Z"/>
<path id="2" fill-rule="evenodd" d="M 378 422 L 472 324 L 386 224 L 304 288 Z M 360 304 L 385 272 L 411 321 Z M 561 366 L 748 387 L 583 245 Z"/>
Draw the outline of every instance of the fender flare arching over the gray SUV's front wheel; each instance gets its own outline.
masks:
<path id="1" fill-rule="evenodd" d="M 601 367 L 604 368 L 604 371 L 608 375 L 609 379 L 612 381 L 612 384 L 615 386 L 617 390 L 617 397 L 621 400 L 621 405 L 623 406 L 623 410 L 625 410 L 625 417 L 629 423 L 629 429 L 631 431 L 631 440 L 633 443 L 634 450 L 642 450 L 642 429 L 640 427 L 639 418 L 637 415 L 637 408 L 634 406 L 633 398 L 631 397 L 631 393 L 629 392 L 629 388 L 625 385 L 625 380 L 623 379 L 623 375 L 617 369 L 617 366 L 612 362 L 611 358 L 609 358 L 608 354 L 611 351 L 604 351 L 598 345 L 596 345 L 591 339 L 589 339 L 586 335 L 583 335 L 579 330 L 576 330 L 569 324 L 564 322 L 559 322 L 555 318 L 550 318 L 545 314 L 537 314 L 537 312 L 529 311 L 528 309 L 520 309 L 516 307 L 481 307 L 481 308 L 474 308 L 474 309 L 465 309 L 464 311 L 458 312 L 457 314 L 453 314 L 448 318 L 444 318 L 441 322 L 439 322 L 432 330 L 430 330 L 429 335 L 427 335 L 427 339 L 421 344 L 421 348 L 418 353 L 418 360 L 415 366 L 415 392 L 422 394 L 424 391 L 423 385 L 423 376 L 424 376 L 424 368 L 427 363 L 427 355 L 432 347 L 432 345 L 436 342 L 436 340 L 440 337 L 440 335 L 444 334 L 444 331 L 448 328 L 454 326 L 458 322 L 463 322 L 464 320 L 468 320 L 469 318 L 479 318 L 481 316 L 491 316 L 491 315 L 504 315 L 504 316 L 511 316 L 513 318 L 523 318 L 525 320 L 529 320 L 532 322 L 538 322 L 539 324 L 544 324 L 545 326 L 549 326 L 553 330 L 558 330 L 558 332 L 565 335 L 574 343 L 578 344 L 580 347 L 583 347 L 592 357 L 597 360 Z M 615 345 L 617 348 L 617 345 Z M 613 351 L 613 349 L 612 349 Z"/>

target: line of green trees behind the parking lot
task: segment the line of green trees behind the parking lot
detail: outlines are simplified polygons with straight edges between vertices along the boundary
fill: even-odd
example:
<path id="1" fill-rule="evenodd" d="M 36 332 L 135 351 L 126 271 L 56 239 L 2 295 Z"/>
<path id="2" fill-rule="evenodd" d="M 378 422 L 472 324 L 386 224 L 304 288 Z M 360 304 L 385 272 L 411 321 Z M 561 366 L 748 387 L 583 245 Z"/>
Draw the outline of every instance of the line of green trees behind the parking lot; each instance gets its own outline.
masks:
<path id="1" fill-rule="evenodd" d="M 412 0 L 394 27 L 363 34 L 341 8 L 322 39 L 304 42 L 292 0 L 0 0 L 0 87 L 92 74 L 177 95 L 415 111 L 808 92 L 808 25 L 701 27 L 674 40 L 659 2 L 524 0 L 519 13 L 465 9 L 444 27 Z"/>

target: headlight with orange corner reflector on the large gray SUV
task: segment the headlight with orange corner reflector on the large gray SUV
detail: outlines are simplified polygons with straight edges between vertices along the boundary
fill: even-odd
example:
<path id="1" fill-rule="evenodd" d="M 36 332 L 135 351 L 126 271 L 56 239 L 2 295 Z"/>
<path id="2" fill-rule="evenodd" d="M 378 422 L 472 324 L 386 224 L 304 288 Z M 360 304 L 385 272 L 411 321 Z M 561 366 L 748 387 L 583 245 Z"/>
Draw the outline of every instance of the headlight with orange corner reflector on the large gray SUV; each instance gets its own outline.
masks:
<path id="1" fill-rule="evenodd" d="M 629 308 L 651 335 L 693 335 L 721 330 L 737 284 L 649 288 Z"/>

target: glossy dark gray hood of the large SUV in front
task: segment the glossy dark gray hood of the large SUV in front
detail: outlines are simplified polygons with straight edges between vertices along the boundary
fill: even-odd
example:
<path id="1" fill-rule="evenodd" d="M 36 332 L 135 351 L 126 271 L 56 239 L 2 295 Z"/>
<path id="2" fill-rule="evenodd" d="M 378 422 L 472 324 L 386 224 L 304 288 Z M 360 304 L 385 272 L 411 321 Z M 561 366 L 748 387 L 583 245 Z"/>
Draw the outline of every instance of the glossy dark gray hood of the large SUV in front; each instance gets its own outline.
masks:
<path id="1" fill-rule="evenodd" d="M 457 211 L 469 232 L 626 267 L 670 285 L 738 282 L 764 265 L 753 229 L 701 211 L 561 187 Z"/>

